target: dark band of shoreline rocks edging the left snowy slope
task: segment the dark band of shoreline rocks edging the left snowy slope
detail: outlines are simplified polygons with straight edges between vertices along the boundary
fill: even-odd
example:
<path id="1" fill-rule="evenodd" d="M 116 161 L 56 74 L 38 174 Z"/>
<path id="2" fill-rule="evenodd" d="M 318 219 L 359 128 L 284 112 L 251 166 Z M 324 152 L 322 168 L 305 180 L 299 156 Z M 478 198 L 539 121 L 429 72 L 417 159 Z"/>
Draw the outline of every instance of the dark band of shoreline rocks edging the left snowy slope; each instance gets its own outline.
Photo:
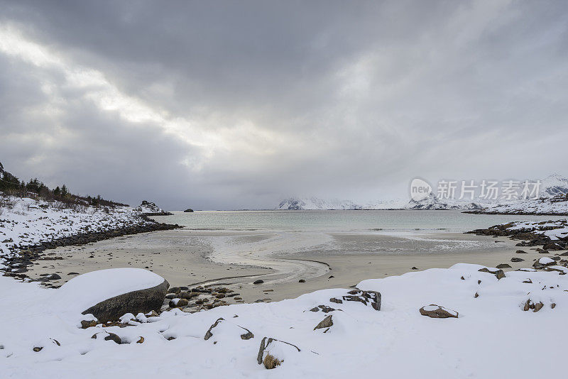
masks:
<path id="1" fill-rule="evenodd" d="M 35 243 L 33 245 L 26 246 L 12 246 L 11 250 L 13 255 L 5 256 L 4 276 L 9 276 L 18 279 L 26 279 L 28 275 L 28 266 L 33 265 L 35 260 L 57 260 L 62 259 L 61 257 L 52 257 L 45 254 L 45 250 L 58 248 L 62 246 L 80 246 L 87 243 L 94 243 L 97 241 L 103 241 L 110 238 L 116 238 L 121 236 L 127 236 L 131 234 L 149 233 L 151 231 L 165 231 L 172 229 L 181 229 L 182 226 L 178 224 L 164 224 L 160 222 L 148 219 L 148 216 L 142 215 L 141 219 L 143 222 L 140 224 L 133 224 L 131 226 L 126 226 L 118 229 L 111 229 L 107 231 L 92 231 L 84 232 L 80 234 L 74 234 L 72 236 L 65 236 L 60 238 L 53 238 L 49 241 L 43 241 L 40 243 Z M 44 276 L 40 278 L 40 281 L 48 281 L 49 276 Z"/>

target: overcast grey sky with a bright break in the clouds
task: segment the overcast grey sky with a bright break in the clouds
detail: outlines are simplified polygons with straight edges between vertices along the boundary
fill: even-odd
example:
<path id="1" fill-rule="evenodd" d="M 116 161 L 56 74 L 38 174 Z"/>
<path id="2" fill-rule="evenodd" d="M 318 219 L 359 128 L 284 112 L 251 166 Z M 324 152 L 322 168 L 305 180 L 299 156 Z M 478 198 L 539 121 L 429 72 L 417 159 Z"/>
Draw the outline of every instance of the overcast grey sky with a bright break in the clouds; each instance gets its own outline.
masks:
<path id="1" fill-rule="evenodd" d="M 0 162 L 165 209 L 568 175 L 566 1 L 0 0 Z"/>

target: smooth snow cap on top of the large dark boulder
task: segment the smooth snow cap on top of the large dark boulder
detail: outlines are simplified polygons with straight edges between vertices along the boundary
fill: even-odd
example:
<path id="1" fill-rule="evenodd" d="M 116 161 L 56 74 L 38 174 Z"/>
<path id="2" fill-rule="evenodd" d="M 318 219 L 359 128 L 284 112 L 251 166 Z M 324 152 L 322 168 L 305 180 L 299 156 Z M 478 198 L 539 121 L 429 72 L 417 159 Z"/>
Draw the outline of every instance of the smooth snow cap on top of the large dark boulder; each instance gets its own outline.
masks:
<path id="1" fill-rule="evenodd" d="M 60 312 L 81 313 L 103 300 L 136 290 L 155 287 L 164 281 L 160 275 L 142 268 L 109 268 L 72 278 L 60 287 L 52 304 Z M 77 297 L 77 294 L 81 294 Z"/>

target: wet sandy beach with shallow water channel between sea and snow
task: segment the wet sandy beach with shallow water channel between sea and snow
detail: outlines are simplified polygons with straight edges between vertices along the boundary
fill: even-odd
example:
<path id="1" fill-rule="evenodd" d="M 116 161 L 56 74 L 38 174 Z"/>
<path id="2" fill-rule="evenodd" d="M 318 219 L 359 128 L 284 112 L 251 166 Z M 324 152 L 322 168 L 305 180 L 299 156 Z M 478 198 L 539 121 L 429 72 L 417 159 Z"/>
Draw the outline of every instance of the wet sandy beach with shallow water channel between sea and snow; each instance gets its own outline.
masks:
<path id="1" fill-rule="evenodd" d="M 498 242 L 496 242 L 498 241 Z M 170 285 L 226 285 L 244 302 L 283 300 L 307 292 L 354 286 L 361 280 L 456 263 L 510 269 L 531 267 L 539 254 L 508 238 L 452 232 L 395 234 L 318 231 L 196 231 L 178 229 L 114 238 L 48 251 L 62 260 L 39 260 L 31 278 L 58 273 L 61 285 L 75 275 L 104 268 L 152 270 Z M 290 248 L 290 251 L 287 249 Z M 522 249 L 527 254 L 516 254 Z M 513 263 L 516 256 L 524 262 Z M 333 277 L 333 278 L 330 278 Z M 261 279 L 263 284 L 253 285 Z M 305 282 L 299 282 L 299 280 Z M 234 300 L 228 299 L 229 302 Z"/>

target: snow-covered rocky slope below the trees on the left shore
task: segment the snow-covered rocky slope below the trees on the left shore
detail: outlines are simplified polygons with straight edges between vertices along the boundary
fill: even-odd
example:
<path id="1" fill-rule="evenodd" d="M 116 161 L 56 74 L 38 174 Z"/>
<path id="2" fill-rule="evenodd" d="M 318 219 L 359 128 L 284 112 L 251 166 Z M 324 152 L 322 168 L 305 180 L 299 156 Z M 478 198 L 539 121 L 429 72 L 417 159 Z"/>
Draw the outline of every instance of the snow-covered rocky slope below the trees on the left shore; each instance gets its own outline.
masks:
<path id="1" fill-rule="evenodd" d="M 3 256 L 19 246 L 93 231 L 109 231 L 146 224 L 141 212 L 130 207 L 62 207 L 28 197 L 9 197 L 13 207 L 0 207 L 0 268 Z M 6 241 L 6 242 L 4 242 Z"/>

